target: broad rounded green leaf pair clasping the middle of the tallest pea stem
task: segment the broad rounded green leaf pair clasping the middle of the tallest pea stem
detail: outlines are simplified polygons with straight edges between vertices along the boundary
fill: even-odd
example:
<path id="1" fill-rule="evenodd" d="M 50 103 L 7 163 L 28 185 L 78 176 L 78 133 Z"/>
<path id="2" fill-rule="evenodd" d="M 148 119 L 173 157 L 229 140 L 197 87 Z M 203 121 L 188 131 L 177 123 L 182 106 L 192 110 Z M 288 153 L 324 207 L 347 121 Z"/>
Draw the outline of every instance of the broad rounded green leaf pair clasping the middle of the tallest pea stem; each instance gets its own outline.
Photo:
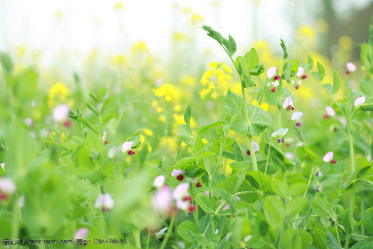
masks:
<path id="1" fill-rule="evenodd" d="M 272 125 L 272 118 L 261 108 L 257 107 L 251 121 L 249 123 L 245 122 L 245 113 L 242 106 L 243 103 L 244 101 L 241 96 L 232 93 L 229 90 L 224 98 L 223 103 L 224 109 L 227 113 L 226 120 L 229 121 L 234 114 L 237 114 L 235 121 L 231 125 L 231 130 L 235 131 L 236 133 L 241 133 L 244 131 L 247 135 L 259 136 L 264 129 L 266 129 L 269 125 Z M 250 118 L 255 106 L 249 106 L 246 101 L 245 105 L 247 105 L 248 116 Z"/>

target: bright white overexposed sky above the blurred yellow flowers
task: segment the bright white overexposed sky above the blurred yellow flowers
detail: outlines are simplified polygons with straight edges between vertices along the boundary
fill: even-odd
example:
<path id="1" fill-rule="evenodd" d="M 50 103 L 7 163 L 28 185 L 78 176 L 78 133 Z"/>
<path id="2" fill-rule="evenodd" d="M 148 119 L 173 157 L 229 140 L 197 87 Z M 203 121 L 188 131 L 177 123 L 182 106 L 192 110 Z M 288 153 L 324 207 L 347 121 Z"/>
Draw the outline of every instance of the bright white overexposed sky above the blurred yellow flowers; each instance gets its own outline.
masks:
<path id="1" fill-rule="evenodd" d="M 144 40 L 152 52 L 167 54 L 172 30 L 183 31 L 183 24 L 189 22 L 188 16 L 180 13 L 184 7 L 201 15 L 204 24 L 223 36 L 229 32 L 238 46 L 250 45 L 255 30 L 257 38 L 278 43 L 280 34 L 291 40 L 293 13 L 301 18 L 300 23 L 313 24 L 312 16 L 321 11 L 320 0 L 215 0 L 222 3 L 219 8 L 211 7 L 212 1 L 122 0 L 125 9 L 118 14 L 114 10 L 118 0 L 0 0 L 0 50 L 12 51 L 22 44 L 43 50 L 46 57 L 53 57 L 61 49 L 83 54 L 93 48 L 128 52 L 132 44 Z M 352 7 L 364 7 L 371 0 L 335 2 L 348 15 Z M 56 12 L 62 12 L 63 17 L 57 19 Z M 121 24 L 124 29 L 119 32 Z M 195 32 L 201 35 L 199 46 L 211 45 L 203 38 L 203 31 L 196 28 Z"/>

